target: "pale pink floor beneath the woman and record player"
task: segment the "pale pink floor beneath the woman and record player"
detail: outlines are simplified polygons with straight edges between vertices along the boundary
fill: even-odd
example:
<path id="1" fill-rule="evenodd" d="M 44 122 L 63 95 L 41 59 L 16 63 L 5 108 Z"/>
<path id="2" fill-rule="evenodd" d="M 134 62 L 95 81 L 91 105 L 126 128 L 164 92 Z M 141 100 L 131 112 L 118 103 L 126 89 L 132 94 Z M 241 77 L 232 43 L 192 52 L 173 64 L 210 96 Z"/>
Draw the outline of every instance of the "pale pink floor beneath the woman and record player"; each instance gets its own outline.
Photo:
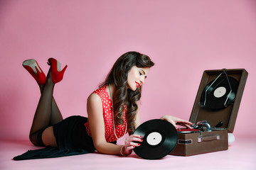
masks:
<path id="1" fill-rule="evenodd" d="M 191 157 L 167 155 L 159 160 L 146 160 L 136 154 L 119 157 L 83 154 L 72 157 L 13 161 L 12 157 L 37 149 L 29 141 L 0 140 L 0 169 L 256 169 L 256 138 L 236 137 L 227 151 Z"/>

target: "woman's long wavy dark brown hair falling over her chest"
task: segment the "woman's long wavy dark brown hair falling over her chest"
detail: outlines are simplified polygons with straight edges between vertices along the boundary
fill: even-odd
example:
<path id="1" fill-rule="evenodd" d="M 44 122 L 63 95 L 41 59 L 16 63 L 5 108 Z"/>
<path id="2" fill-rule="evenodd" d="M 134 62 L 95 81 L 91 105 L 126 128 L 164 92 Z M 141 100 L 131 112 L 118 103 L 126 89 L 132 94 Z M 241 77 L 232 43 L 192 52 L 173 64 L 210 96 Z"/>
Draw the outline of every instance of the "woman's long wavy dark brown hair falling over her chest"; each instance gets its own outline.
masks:
<path id="1" fill-rule="evenodd" d="M 113 94 L 114 120 L 116 120 L 117 125 L 124 124 L 122 118 L 124 115 L 124 106 L 127 106 L 127 129 L 129 135 L 133 134 L 135 130 L 134 118 L 138 110 L 137 101 L 139 101 L 142 94 L 142 86 L 139 86 L 136 91 L 127 89 L 128 72 L 134 66 L 140 68 L 152 67 L 154 66 L 154 62 L 151 61 L 149 56 L 142 55 L 139 52 L 124 53 L 114 63 L 105 81 L 100 84 L 100 87 L 102 87 L 114 83 L 116 89 Z"/>

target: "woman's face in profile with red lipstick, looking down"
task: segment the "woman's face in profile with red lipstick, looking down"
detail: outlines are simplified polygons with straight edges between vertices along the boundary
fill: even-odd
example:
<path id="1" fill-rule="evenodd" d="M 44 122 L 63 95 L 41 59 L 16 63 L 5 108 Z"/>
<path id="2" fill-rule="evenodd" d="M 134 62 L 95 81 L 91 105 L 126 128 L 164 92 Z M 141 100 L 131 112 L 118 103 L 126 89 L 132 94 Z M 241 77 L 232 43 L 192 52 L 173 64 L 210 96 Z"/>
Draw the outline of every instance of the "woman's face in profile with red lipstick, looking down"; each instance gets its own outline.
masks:
<path id="1" fill-rule="evenodd" d="M 149 67 L 132 67 L 128 72 L 127 88 L 135 91 L 139 86 L 144 84 L 144 81 L 149 74 Z"/>

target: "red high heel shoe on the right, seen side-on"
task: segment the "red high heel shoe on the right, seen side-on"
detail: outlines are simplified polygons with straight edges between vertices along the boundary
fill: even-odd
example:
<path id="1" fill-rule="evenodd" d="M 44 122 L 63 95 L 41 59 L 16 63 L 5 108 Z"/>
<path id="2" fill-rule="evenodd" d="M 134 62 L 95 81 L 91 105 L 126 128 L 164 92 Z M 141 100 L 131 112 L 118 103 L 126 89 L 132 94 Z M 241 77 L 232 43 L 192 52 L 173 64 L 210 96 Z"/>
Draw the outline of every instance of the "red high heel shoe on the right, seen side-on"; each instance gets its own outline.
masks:
<path id="1" fill-rule="evenodd" d="M 63 79 L 63 74 L 65 72 L 65 69 L 67 69 L 68 65 L 65 65 L 64 69 L 60 71 L 60 62 L 58 62 L 54 58 L 49 58 L 48 62 L 49 62 L 48 64 L 51 67 L 51 72 L 52 72 L 51 76 L 52 76 L 53 84 L 56 84 Z"/>

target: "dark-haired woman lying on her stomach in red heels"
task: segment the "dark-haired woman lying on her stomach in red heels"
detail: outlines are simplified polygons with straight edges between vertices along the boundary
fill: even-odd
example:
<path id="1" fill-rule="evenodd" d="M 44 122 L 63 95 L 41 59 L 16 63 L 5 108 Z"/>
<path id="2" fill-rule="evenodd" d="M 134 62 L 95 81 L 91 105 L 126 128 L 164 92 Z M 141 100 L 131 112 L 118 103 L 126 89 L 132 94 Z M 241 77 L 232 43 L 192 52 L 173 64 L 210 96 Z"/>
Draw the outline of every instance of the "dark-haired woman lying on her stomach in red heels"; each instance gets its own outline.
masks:
<path id="1" fill-rule="evenodd" d="M 142 137 L 133 135 L 140 125 L 138 101 L 142 84 L 154 62 L 139 52 L 127 52 L 114 63 L 105 82 L 87 98 L 88 118 L 71 116 L 63 120 L 55 99 L 53 88 L 63 79 L 67 66 L 60 71 L 60 63 L 50 58 L 47 77 L 36 60 L 23 62 L 41 89 L 30 132 L 30 140 L 36 146 L 48 146 L 40 151 L 28 151 L 14 159 L 61 157 L 72 154 L 97 152 L 127 156 L 139 147 Z M 114 108 L 114 109 L 113 109 Z M 190 127 L 192 123 L 164 115 L 161 119 Z M 116 145 L 119 137 L 129 132 L 124 145 Z M 50 148 L 50 149 L 49 149 Z M 43 154 L 42 154 L 43 152 Z M 43 156 L 42 156 L 43 155 Z"/>

